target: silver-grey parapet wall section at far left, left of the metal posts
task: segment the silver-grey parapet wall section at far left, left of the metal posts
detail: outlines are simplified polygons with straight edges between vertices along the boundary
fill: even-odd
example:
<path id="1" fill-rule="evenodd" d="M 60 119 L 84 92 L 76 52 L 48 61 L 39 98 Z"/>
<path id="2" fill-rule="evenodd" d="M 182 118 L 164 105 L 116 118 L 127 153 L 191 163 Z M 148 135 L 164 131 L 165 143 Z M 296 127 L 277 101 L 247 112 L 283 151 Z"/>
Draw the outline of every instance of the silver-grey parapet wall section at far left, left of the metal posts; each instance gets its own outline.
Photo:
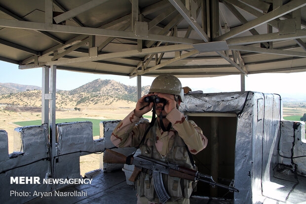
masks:
<path id="1" fill-rule="evenodd" d="M 48 192 L 49 186 L 42 184 L 10 184 L 11 177 L 34 177 L 42 181 L 50 173 L 48 161 L 48 129 L 44 125 L 15 128 L 13 152 L 8 155 L 7 134 L 0 131 L 0 198 L 8 204 L 24 203 L 33 199 L 34 191 Z M 6 145 L 5 145 L 6 143 Z M 3 160 L 4 159 L 4 160 Z M 20 196 L 21 193 L 28 196 Z M 18 195 L 18 196 L 16 196 Z"/>

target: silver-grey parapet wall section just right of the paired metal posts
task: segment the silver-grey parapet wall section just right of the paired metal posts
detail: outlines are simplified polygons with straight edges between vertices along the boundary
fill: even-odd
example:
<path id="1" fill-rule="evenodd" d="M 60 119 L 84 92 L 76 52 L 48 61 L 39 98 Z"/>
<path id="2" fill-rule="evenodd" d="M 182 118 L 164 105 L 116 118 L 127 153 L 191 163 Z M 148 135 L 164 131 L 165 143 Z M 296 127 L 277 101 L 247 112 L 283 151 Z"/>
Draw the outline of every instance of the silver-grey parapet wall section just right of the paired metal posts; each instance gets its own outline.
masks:
<path id="1" fill-rule="evenodd" d="M 105 147 L 104 140 L 93 140 L 92 122 L 57 124 L 57 141 L 53 172 L 55 178 L 80 178 L 79 157 L 101 152 Z M 53 186 L 52 190 L 62 187 L 63 185 Z"/>

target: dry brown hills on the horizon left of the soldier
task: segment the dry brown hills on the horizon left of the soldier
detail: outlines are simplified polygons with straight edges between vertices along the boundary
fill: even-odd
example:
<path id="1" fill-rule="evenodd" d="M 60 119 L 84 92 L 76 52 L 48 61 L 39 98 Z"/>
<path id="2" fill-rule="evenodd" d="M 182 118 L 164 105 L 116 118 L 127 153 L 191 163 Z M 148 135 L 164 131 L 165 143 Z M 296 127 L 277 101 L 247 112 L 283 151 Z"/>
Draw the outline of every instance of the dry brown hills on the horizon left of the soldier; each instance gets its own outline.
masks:
<path id="1" fill-rule="evenodd" d="M 14 88 L 18 86 L 15 85 L 11 87 Z M 28 89 L 27 91 L 20 91 L 17 88 L 12 88 L 7 88 L 9 89 L 6 90 L 7 94 L 0 95 L 0 103 L 18 106 L 41 106 L 40 90 Z M 28 88 L 30 88 L 30 86 L 28 86 Z M 143 86 L 142 95 L 147 94 L 149 89 L 150 86 Z M 56 107 L 58 109 L 71 109 L 78 106 L 104 108 L 110 105 L 113 107 L 125 107 L 134 106 L 136 101 L 137 86 L 124 85 L 114 80 L 98 79 L 71 91 L 59 90 L 56 92 Z"/>

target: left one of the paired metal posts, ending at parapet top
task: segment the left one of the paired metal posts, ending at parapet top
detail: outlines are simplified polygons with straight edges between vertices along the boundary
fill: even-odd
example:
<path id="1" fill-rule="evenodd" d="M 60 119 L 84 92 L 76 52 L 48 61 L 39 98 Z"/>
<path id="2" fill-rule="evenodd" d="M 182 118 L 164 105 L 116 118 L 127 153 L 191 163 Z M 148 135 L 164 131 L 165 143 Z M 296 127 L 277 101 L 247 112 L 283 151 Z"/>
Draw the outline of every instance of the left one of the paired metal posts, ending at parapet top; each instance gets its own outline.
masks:
<path id="1" fill-rule="evenodd" d="M 49 67 L 42 68 L 41 85 L 41 124 L 49 123 L 49 100 L 46 94 L 49 93 Z"/>

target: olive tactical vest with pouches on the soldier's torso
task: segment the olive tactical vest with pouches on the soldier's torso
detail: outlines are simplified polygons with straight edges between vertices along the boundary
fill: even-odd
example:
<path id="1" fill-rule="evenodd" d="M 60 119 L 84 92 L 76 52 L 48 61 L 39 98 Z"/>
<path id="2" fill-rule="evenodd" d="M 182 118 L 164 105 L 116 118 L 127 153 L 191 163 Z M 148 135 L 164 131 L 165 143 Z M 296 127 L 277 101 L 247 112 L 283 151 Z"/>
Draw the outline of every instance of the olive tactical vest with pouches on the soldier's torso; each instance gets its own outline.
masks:
<path id="1" fill-rule="evenodd" d="M 178 135 L 177 131 L 175 131 L 175 136 L 170 138 L 170 140 L 174 140 L 174 142 L 169 153 L 165 157 L 162 157 L 159 154 L 154 142 L 154 137 L 156 138 L 156 125 L 157 122 L 155 122 L 153 127 L 150 129 L 144 139 L 144 143 L 140 146 L 141 154 L 163 162 L 177 163 L 181 166 L 194 169 L 191 165 L 185 143 Z M 152 171 L 150 170 L 140 172 L 136 180 L 137 193 L 139 197 L 145 196 L 151 202 L 158 202 L 152 177 Z M 162 174 L 162 180 L 166 191 L 171 197 L 170 201 L 176 201 L 182 198 L 189 199 L 192 193 L 192 187 L 195 187 L 195 182 L 193 181 L 168 176 L 166 174 Z"/>

